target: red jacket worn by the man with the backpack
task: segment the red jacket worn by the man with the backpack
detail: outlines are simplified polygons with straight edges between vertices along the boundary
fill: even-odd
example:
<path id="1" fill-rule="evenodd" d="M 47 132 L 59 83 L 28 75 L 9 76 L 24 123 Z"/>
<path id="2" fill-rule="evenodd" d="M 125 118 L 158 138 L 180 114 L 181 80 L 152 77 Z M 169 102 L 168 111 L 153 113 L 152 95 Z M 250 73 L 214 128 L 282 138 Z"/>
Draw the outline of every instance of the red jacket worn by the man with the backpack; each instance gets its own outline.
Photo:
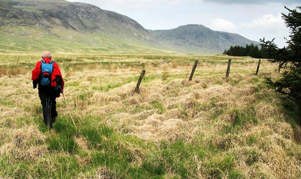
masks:
<path id="1" fill-rule="evenodd" d="M 48 58 L 48 57 L 45 57 L 43 58 L 43 60 L 46 62 L 46 63 L 50 63 L 51 59 Z M 39 78 L 40 76 L 40 73 L 41 73 L 41 64 L 42 62 L 38 61 L 36 64 L 35 64 L 35 68 L 34 70 L 32 71 L 32 80 L 36 80 Z M 56 80 L 54 80 L 56 78 L 56 75 L 59 75 L 61 76 L 62 78 L 62 91 L 64 90 L 64 80 L 63 80 L 63 76 L 62 76 L 62 73 L 61 73 L 61 70 L 59 68 L 59 66 L 57 65 L 56 62 L 53 63 L 53 70 L 52 70 L 52 73 L 51 73 L 51 86 L 52 87 L 56 87 Z"/>

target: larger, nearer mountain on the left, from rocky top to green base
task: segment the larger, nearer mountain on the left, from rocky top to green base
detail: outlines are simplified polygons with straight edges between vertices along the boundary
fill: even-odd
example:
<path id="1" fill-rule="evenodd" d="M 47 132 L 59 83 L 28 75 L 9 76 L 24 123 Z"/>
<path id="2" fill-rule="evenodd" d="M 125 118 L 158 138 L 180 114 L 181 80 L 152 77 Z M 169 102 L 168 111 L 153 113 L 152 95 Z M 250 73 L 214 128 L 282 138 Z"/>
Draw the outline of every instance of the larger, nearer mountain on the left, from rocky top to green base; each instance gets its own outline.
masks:
<path id="1" fill-rule="evenodd" d="M 1 0 L 0 40 L 1 52 L 163 52 L 135 20 L 65 0 Z"/>

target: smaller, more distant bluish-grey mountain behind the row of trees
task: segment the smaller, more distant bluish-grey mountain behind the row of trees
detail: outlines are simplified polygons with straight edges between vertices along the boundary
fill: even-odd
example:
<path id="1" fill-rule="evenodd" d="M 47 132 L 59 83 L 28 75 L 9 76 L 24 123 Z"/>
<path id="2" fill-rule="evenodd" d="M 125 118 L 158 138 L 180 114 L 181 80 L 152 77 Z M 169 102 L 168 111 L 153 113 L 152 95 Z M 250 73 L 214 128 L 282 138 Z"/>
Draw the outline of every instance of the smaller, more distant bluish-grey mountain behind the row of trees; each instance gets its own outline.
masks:
<path id="1" fill-rule="evenodd" d="M 188 24 L 170 30 L 148 30 L 160 43 L 179 52 L 192 54 L 222 53 L 230 46 L 259 44 L 238 34 L 213 31 L 208 27 Z"/>

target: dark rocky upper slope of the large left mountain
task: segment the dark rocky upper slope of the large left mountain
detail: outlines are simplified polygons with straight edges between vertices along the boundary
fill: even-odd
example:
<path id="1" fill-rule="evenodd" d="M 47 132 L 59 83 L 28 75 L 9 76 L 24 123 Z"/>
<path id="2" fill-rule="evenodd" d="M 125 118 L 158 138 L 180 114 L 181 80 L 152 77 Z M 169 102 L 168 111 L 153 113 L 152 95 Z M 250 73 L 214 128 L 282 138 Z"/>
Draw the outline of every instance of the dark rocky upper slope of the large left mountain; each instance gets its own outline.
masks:
<path id="1" fill-rule="evenodd" d="M 116 36 L 149 39 L 136 21 L 97 6 L 65 0 L 8 0 L 1 2 L 1 26 L 63 26 L 78 32 L 100 31 Z"/>

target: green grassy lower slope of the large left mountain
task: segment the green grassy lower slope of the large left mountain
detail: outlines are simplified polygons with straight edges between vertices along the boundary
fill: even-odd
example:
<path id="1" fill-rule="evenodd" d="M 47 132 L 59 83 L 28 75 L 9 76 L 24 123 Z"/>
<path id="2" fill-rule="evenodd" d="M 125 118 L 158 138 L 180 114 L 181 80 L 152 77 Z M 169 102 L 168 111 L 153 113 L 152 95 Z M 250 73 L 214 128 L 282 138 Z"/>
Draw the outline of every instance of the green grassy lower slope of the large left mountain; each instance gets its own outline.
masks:
<path id="1" fill-rule="evenodd" d="M 103 32 L 78 32 L 72 29 L 55 26 L 45 30 L 41 26 L 23 26 L 25 36 L 20 36 L 20 29 L 11 26 L 1 26 L 0 52 L 37 52 L 45 47 L 56 53 L 116 53 L 116 54 L 171 54 L 172 51 L 161 50 L 151 43 L 141 43 L 139 39 L 111 36 Z M 12 35 L 14 34 L 14 35 Z M 43 36 L 42 36 L 43 34 Z M 55 34 L 55 35 L 53 35 Z M 29 35 L 33 35 L 29 37 Z M 67 36 L 72 36 L 70 40 Z M 47 40 L 43 40 L 47 39 Z M 93 41 L 93 43 L 91 43 Z M 101 48 L 100 48 L 101 47 Z"/>

